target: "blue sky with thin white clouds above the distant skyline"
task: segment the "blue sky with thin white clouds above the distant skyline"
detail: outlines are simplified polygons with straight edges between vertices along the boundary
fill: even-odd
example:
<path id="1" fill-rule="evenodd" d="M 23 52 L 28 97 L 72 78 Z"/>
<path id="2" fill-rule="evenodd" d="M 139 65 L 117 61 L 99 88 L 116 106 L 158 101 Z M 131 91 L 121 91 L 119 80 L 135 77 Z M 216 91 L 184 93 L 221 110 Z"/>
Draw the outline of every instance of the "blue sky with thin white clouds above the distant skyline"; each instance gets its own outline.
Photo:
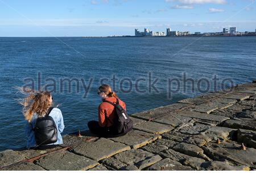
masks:
<path id="1" fill-rule="evenodd" d="M 134 35 L 153 31 L 255 31 L 255 0 L 0 0 L 0 36 Z"/>

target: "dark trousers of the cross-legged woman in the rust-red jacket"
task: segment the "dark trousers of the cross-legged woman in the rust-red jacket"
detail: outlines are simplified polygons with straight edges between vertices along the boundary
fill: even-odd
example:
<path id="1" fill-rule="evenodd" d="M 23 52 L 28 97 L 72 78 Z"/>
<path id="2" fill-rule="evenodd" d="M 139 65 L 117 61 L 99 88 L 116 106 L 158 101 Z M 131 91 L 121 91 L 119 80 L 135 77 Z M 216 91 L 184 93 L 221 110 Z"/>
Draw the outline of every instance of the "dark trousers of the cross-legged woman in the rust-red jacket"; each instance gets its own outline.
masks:
<path id="1" fill-rule="evenodd" d="M 101 127 L 98 125 L 97 121 L 89 121 L 87 125 L 92 133 L 99 135 L 100 137 L 114 138 L 125 135 L 125 133 L 115 132 L 113 127 Z"/>

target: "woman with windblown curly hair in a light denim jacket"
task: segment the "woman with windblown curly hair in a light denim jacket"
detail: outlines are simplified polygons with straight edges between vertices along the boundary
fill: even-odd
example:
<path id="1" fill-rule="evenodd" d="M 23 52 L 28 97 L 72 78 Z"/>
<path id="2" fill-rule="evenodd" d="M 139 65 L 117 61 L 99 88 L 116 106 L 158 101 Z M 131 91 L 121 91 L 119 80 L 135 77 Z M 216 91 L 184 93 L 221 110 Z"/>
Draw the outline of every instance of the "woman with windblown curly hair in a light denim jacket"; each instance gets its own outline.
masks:
<path id="1" fill-rule="evenodd" d="M 63 116 L 60 109 L 53 107 L 52 109 L 52 96 L 49 92 L 36 92 L 31 91 L 30 95 L 20 101 L 23 106 L 23 115 L 27 120 L 26 123 L 26 137 L 27 137 L 27 148 L 30 149 L 46 149 L 56 147 L 57 144 L 62 144 L 63 140 L 60 135 L 64 130 Z M 50 111 L 51 108 L 51 111 Z M 50 113 L 48 113 L 50 111 Z M 44 117 L 46 114 L 52 117 L 57 128 L 57 141 L 55 143 L 47 145 L 37 145 L 35 139 L 35 123 L 36 119 Z"/>

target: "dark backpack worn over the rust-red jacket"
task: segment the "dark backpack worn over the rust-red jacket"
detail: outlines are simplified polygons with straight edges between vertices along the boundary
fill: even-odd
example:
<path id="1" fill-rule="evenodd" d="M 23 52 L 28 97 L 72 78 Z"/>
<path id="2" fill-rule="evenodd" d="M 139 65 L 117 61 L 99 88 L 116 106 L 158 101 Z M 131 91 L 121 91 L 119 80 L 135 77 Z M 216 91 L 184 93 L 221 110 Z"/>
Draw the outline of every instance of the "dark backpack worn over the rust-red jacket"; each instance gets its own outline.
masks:
<path id="1" fill-rule="evenodd" d="M 109 104 L 113 105 L 115 107 L 115 112 L 117 113 L 118 118 L 114 120 L 114 130 L 120 134 L 120 133 L 128 133 L 131 129 L 133 129 L 133 121 L 129 118 L 129 115 L 127 114 L 126 110 L 123 109 L 121 105 L 119 105 L 119 101 L 117 98 L 117 104 L 114 104 L 110 101 L 104 101 L 108 102 Z"/>

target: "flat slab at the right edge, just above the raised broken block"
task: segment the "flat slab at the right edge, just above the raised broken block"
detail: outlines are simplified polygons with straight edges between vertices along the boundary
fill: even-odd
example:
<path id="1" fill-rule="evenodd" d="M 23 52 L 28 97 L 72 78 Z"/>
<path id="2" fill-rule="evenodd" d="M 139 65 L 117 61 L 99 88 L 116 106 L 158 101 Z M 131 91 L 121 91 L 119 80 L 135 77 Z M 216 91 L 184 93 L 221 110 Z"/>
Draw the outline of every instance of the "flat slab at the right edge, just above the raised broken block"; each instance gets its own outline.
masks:
<path id="1" fill-rule="evenodd" d="M 227 121 L 224 121 L 223 123 L 224 127 L 230 127 L 232 129 L 245 129 L 245 130 L 254 130 L 256 131 L 256 121 L 254 119 L 246 120 L 233 120 L 229 119 Z"/>

